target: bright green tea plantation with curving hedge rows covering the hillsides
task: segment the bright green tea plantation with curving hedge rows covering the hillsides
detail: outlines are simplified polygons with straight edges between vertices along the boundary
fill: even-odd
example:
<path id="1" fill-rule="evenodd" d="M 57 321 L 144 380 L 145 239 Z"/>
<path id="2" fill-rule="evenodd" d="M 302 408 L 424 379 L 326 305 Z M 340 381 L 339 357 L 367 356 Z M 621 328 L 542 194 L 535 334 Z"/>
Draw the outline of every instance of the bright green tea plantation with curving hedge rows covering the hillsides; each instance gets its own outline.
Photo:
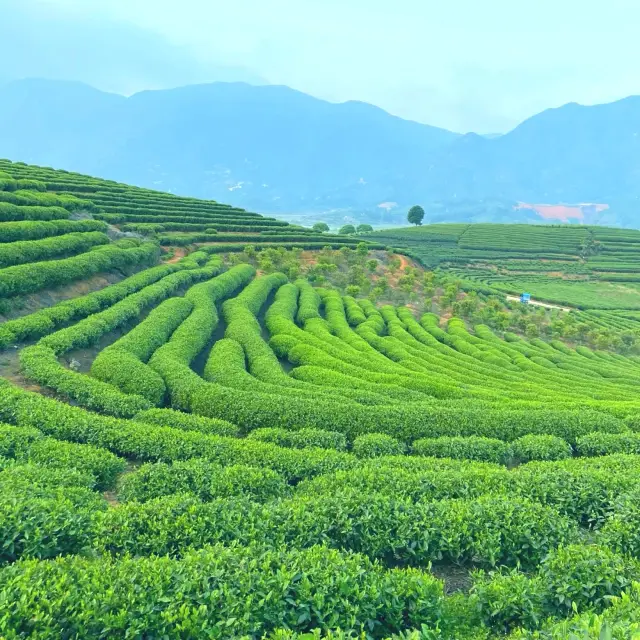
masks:
<path id="1" fill-rule="evenodd" d="M 0 638 L 640 637 L 639 356 L 229 257 L 362 238 L 0 172 Z M 357 251 L 454 304 L 508 290 L 475 256 L 634 266 L 637 232 L 527 229 Z"/>

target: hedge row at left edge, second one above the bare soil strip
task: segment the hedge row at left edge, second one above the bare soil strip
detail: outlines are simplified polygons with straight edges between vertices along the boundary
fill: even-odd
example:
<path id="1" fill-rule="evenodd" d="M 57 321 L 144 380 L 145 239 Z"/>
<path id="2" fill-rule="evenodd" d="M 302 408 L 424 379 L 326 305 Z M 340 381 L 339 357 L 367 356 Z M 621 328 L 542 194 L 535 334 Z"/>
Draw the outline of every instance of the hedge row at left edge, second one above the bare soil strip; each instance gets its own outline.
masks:
<path id="1" fill-rule="evenodd" d="M 102 244 L 109 244 L 109 237 L 100 231 L 12 242 L 0 247 L 0 269 L 60 256 L 73 256 Z"/>

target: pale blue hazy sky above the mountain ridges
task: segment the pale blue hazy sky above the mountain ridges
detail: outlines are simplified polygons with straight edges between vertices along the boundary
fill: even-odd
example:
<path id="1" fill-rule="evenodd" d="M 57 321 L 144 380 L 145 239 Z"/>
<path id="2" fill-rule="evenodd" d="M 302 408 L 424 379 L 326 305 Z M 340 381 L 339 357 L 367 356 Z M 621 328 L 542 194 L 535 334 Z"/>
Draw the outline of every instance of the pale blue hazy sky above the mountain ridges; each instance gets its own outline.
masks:
<path id="1" fill-rule="evenodd" d="M 119 93 L 285 84 L 463 133 L 640 93 L 637 0 L 0 0 L 2 15 L 14 76 Z"/>

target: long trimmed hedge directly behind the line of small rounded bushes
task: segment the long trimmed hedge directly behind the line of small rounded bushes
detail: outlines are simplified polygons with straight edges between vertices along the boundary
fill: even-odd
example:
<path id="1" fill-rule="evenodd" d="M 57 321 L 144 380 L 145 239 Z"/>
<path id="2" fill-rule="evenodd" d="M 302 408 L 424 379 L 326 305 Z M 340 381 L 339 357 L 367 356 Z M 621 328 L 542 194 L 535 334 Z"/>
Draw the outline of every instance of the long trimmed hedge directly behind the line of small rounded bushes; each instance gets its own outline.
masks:
<path id="1" fill-rule="evenodd" d="M 593 431 L 620 433 L 623 422 L 597 411 L 514 410 L 477 407 L 440 407 L 432 403 L 405 406 L 359 406 L 336 397 L 313 401 L 274 397 L 216 384 L 194 384 L 189 408 L 193 413 L 222 418 L 247 429 L 274 424 L 289 429 L 339 431 L 348 438 L 364 433 L 386 433 L 403 442 L 425 437 L 483 436 L 511 441 L 523 435 L 555 435 L 569 443 Z"/>

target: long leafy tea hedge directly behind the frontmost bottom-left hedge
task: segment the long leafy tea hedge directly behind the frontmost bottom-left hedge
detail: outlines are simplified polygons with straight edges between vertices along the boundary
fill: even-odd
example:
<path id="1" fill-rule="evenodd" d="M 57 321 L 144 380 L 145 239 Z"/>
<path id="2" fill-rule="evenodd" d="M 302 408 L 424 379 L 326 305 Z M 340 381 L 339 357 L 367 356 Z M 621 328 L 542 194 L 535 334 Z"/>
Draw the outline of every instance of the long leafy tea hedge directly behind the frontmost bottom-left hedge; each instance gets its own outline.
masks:
<path id="1" fill-rule="evenodd" d="M 342 491 L 264 505 L 236 496 L 202 502 L 176 495 L 99 514 L 100 551 L 179 557 L 186 549 L 236 542 L 295 549 L 326 544 L 390 566 L 442 561 L 532 569 L 578 530 L 555 509 L 518 497 L 412 502 Z"/>

